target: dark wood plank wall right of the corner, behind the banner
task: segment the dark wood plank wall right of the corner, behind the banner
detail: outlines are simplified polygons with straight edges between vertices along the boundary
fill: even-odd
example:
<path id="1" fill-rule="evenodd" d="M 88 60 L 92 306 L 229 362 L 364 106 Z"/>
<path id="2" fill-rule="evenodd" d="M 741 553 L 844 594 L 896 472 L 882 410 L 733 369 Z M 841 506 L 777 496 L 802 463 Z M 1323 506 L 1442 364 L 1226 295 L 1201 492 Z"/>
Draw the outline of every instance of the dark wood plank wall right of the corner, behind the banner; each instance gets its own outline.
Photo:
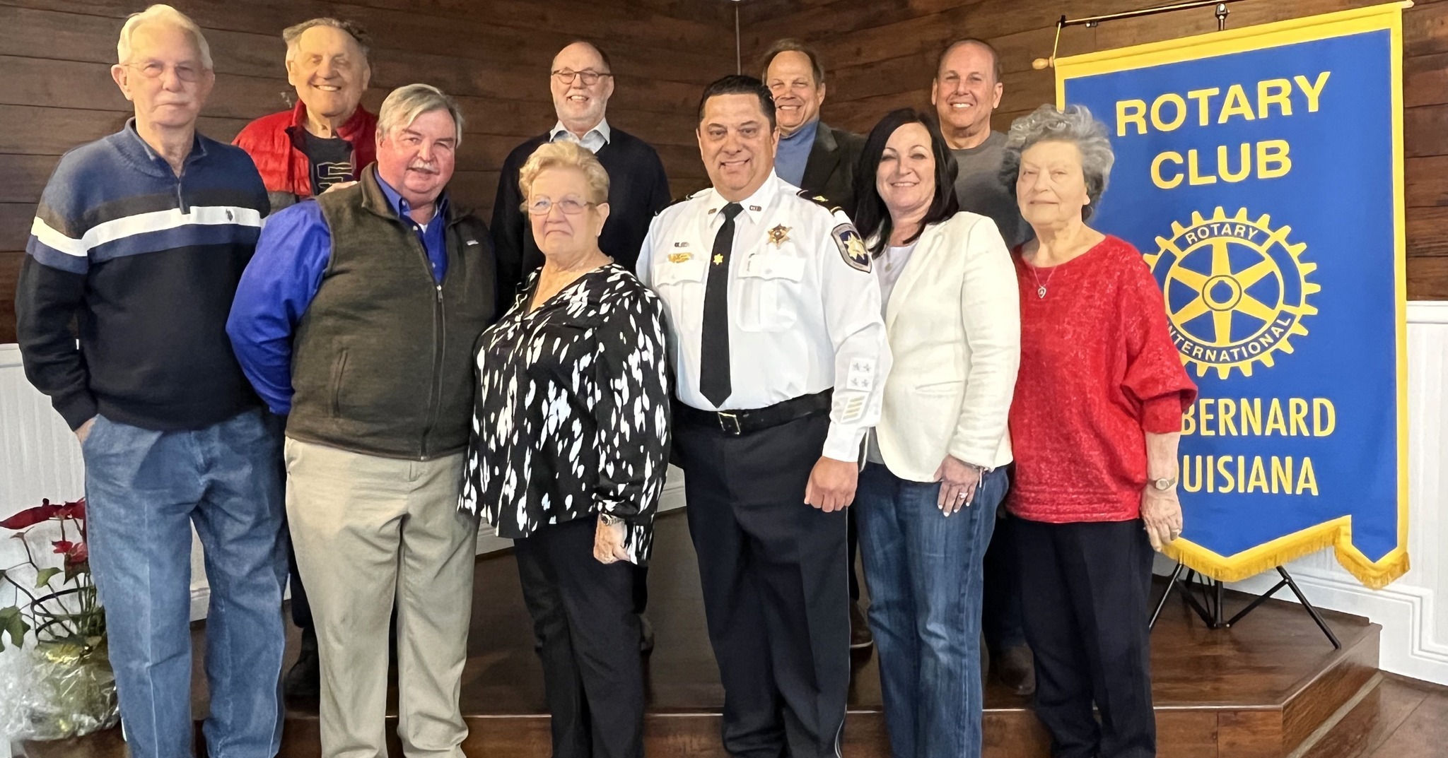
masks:
<path id="1" fill-rule="evenodd" d="M 1231 27 L 1310 16 L 1380 0 L 1248 0 L 1234 3 Z M 1051 71 L 1031 61 L 1051 54 L 1056 19 L 1148 7 L 1151 0 L 756 0 L 743 7 L 746 61 L 776 38 L 820 49 L 830 91 L 824 120 L 867 132 L 886 111 L 930 108 L 935 56 L 950 39 L 976 36 L 1001 51 L 1005 95 L 995 117 L 1054 100 Z M 1407 185 L 1407 297 L 1448 299 L 1448 0 L 1418 0 L 1403 16 Z M 1212 32 L 1211 7 L 1069 27 L 1060 55 L 1122 48 Z M 757 68 L 757 67 L 753 67 Z M 752 69 L 746 62 L 746 69 Z"/>

